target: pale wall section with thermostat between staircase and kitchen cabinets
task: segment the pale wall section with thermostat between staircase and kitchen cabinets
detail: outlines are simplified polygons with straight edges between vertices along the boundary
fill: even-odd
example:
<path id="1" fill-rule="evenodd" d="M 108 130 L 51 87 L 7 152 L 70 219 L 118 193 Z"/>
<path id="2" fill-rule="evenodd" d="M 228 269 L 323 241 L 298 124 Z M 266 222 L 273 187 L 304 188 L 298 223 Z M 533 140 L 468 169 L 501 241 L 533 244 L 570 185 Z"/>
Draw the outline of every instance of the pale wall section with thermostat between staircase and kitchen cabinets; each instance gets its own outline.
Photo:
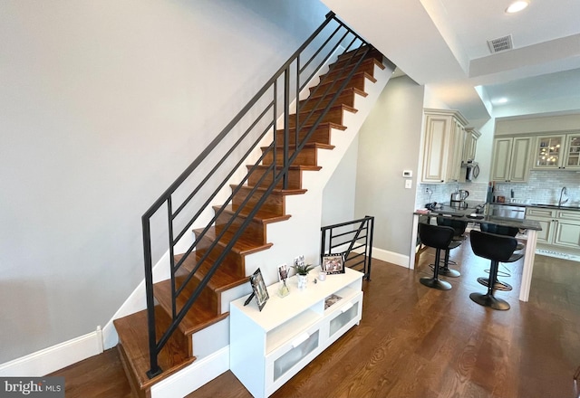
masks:
<path id="1" fill-rule="evenodd" d="M 355 217 L 373 215 L 373 246 L 401 255 L 410 250 L 423 95 L 406 76 L 389 81 L 359 138 Z M 403 170 L 413 172 L 411 189 Z"/>

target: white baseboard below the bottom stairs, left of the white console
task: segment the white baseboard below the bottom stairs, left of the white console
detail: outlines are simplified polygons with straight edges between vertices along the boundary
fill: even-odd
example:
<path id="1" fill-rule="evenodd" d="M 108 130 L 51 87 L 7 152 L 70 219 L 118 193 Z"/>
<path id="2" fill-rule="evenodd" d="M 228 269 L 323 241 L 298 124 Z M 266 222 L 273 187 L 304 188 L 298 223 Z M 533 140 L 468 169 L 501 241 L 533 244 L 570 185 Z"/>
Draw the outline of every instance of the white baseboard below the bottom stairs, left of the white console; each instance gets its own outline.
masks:
<path id="1" fill-rule="evenodd" d="M 186 396 L 229 370 L 229 346 L 151 387 L 151 398 Z"/>

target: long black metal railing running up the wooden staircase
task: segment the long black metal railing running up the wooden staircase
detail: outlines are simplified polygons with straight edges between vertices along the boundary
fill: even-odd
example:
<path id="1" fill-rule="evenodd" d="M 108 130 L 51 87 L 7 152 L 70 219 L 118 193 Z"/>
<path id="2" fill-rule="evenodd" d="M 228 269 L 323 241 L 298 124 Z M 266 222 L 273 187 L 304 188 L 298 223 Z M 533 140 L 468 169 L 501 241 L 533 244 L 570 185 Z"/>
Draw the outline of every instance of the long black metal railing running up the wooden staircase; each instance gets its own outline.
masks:
<path id="1" fill-rule="evenodd" d="M 344 25 L 333 13 L 326 15 L 326 19 L 321 26 L 306 40 L 306 42 L 276 71 L 275 75 L 266 82 L 266 85 L 257 92 L 247 105 L 240 110 L 237 116 L 227 124 L 217 137 L 204 149 L 199 156 L 179 175 L 176 181 L 161 194 L 160 198 L 151 205 L 150 209 L 141 218 L 143 229 L 143 251 L 145 261 L 145 285 L 148 309 L 148 329 L 150 348 L 150 370 L 149 377 L 161 373 L 158 364 L 160 350 L 168 342 L 169 337 L 179 326 L 179 322 L 186 316 L 187 312 L 198 299 L 201 291 L 207 286 L 208 281 L 218 270 L 219 265 L 225 260 L 227 252 L 230 251 L 240 238 L 247 225 L 251 222 L 262 204 L 266 202 L 266 197 L 271 194 L 276 187 L 288 188 L 288 171 L 295 161 L 296 156 L 314 133 L 314 130 L 323 120 L 326 113 L 332 107 L 333 102 L 338 98 L 341 91 L 346 87 L 353 77 L 354 71 L 361 64 L 369 51 L 369 45 L 358 34 L 354 33 L 348 26 Z M 328 78 L 333 71 L 324 76 L 327 78 L 327 88 L 322 92 L 312 92 L 306 100 L 300 100 L 300 94 L 305 90 L 315 74 L 321 71 L 324 65 L 332 61 L 333 57 L 339 54 L 347 54 L 353 67 L 343 76 Z M 306 60 L 303 62 L 303 60 Z M 319 87 L 321 87 L 319 85 Z M 317 89 L 318 90 L 318 89 Z M 335 93 L 334 93 L 335 92 Z M 318 98 L 321 95 L 331 95 L 332 100 L 325 106 L 324 111 L 316 116 L 314 110 L 307 114 L 301 114 L 309 100 Z M 294 109 L 291 108 L 291 100 L 295 100 L 294 121 L 294 144 L 290 139 L 291 127 L 290 115 Z M 322 98 L 318 100 L 319 105 Z M 318 109 L 314 107 L 313 109 Z M 283 117 L 280 121 L 279 118 Z M 276 134 L 276 130 L 283 130 L 282 137 Z M 300 137 L 300 133 L 304 133 Z M 224 194 L 228 188 L 230 180 L 237 176 L 237 171 L 248 162 L 256 153 L 256 148 L 263 144 L 266 137 L 273 136 L 261 156 L 253 160 L 252 166 L 247 166 L 247 173 L 240 177 L 241 182 L 232 188 L 231 194 Z M 276 152 L 276 148 L 282 148 L 282 154 Z M 273 161 L 270 166 L 262 166 L 263 159 L 271 154 Z M 278 157 L 282 156 L 281 159 Z M 185 273 L 181 269 L 184 261 L 203 242 L 208 235 L 212 225 L 214 225 L 227 206 L 232 204 L 235 195 L 246 185 L 250 175 L 262 173 L 259 180 L 254 184 L 253 189 L 247 194 L 246 199 L 237 204 L 237 210 L 230 221 L 226 223 L 222 231 L 217 234 L 213 243 L 208 246 L 203 255 L 196 261 L 193 270 Z M 239 181 L 239 180 L 238 180 Z M 228 242 L 220 252 L 217 259 L 212 259 L 211 268 L 206 272 L 204 278 L 198 283 L 191 296 L 185 304 L 178 308 L 177 298 L 183 292 L 189 281 L 193 279 L 199 268 L 208 261 L 209 253 L 215 248 L 219 241 L 224 240 L 227 231 L 230 230 L 235 217 L 247 206 L 252 196 L 256 197 L 258 187 L 263 186 L 259 199 L 253 207 L 249 207 L 247 217 L 232 236 L 227 236 Z M 264 189 L 266 186 L 266 189 Z M 212 203 L 218 202 L 219 198 L 227 195 L 213 216 L 208 215 Z M 163 211 L 165 209 L 165 211 Z M 165 215 L 163 222 L 161 214 Z M 161 220 L 161 221 L 160 221 Z M 202 223 L 203 222 L 203 223 Z M 176 246 L 183 246 L 182 242 L 187 241 L 188 232 L 197 224 L 205 225 L 195 235 L 193 242 L 186 242 L 187 248 L 181 249 L 182 253 L 179 261 L 176 261 Z M 155 232 L 154 235 L 152 233 Z M 165 237 L 163 236 L 165 235 Z M 153 247 L 153 244 L 164 242 L 160 248 Z M 155 251 L 155 254 L 154 254 Z M 162 258 L 163 253 L 169 253 L 169 274 L 171 286 L 171 323 L 159 340 L 156 334 L 155 320 L 155 298 L 153 294 L 153 257 Z M 178 271 L 180 280 L 176 276 Z"/>

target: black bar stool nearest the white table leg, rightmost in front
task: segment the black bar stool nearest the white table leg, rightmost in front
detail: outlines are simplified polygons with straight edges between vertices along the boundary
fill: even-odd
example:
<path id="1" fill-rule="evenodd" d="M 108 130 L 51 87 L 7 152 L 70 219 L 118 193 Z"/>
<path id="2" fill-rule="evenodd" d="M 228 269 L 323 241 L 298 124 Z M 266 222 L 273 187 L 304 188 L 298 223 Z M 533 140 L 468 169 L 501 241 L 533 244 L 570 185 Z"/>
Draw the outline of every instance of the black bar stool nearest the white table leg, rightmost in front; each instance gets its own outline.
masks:
<path id="1" fill-rule="evenodd" d="M 498 264 L 506 262 L 512 256 L 517 247 L 517 239 L 511 236 L 498 235 L 489 232 L 470 232 L 471 249 L 473 252 L 484 259 L 491 261 L 489 268 L 488 292 L 486 294 L 471 293 L 469 299 L 472 299 L 480 306 L 493 309 L 506 310 L 509 304 L 503 299 L 494 296 L 496 291 L 496 281 L 498 280 Z"/>

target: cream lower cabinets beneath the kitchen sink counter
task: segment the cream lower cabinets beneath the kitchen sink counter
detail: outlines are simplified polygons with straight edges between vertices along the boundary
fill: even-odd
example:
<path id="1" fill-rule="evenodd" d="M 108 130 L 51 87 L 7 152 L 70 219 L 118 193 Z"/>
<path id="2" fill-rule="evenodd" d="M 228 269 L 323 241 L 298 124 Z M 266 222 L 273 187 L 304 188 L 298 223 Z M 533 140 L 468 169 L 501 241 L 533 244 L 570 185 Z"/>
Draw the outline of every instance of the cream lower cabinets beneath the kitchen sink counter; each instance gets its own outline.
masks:
<path id="1" fill-rule="evenodd" d="M 542 226 L 537 242 L 578 249 L 580 246 L 580 211 L 528 207 L 526 218 Z"/>

